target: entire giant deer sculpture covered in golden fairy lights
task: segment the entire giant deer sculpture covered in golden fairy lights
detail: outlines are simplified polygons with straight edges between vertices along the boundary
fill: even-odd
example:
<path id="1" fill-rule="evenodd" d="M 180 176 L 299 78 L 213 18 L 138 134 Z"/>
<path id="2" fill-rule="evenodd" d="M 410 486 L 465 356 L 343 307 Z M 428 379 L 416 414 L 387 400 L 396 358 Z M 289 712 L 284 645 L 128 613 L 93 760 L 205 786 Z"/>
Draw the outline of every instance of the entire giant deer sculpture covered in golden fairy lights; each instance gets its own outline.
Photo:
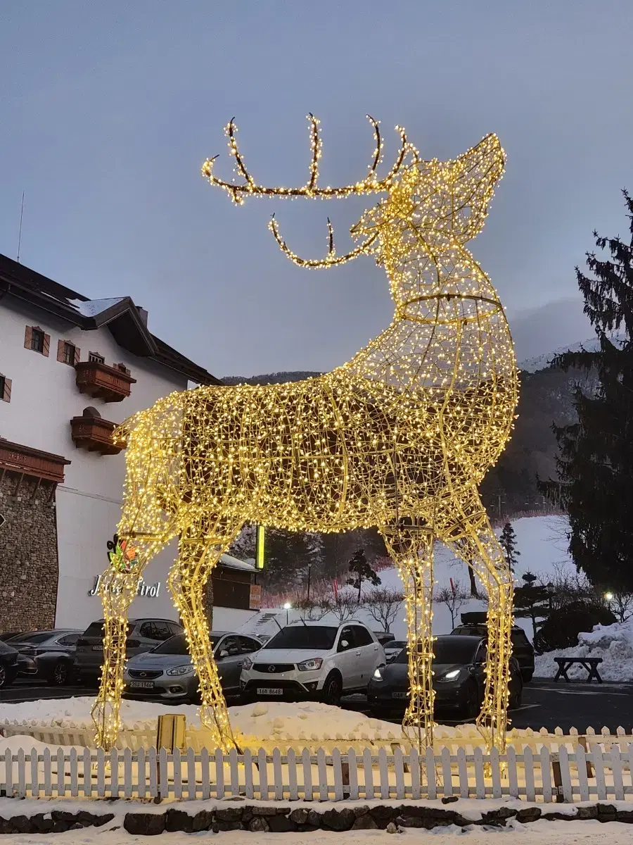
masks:
<path id="1" fill-rule="evenodd" d="M 203 175 L 238 204 L 249 196 L 341 198 L 384 194 L 351 229 L 358 246 L 302 259 L 270 224 L 295 264 L 327 268 L 360 254 L 384 266 L 391 324 L 332 373 L 291 384 L 198 387 L 161 399 L 127 421 L 127 480 L 119 535 L 132 567 L 101 581 L 104 666 L 93 708 L 97 741 L 116 741 L 127 611 L 144 566 L 180 538 L 169 585 L 187 632 L 202 695 L 201 720 L 219 748 L 235 745 L 209 645 L 203 587 L 248 521 L 300 532 L 378 526 L 406 592 L 410 701 L 404 728 L 419 750 L 433 741 L 433 543 L 470 565 L 489 596 L 488 658 L 478 718 L 488 747 L 503 750 L 508 705 L 512 578 L 478 485 L 510 436 L 517 365 L 490 279 L 465 244 L 484 226 L 505 155 L 492 134 L 452 161 L 423 161 L 400 128 L 392 169 L 321 188 L 319 124 L 309 116 L 311 164 L 301 188 L 266 188 L 247 171 L 235 124 L 226 128 L 239 183 Z"/>

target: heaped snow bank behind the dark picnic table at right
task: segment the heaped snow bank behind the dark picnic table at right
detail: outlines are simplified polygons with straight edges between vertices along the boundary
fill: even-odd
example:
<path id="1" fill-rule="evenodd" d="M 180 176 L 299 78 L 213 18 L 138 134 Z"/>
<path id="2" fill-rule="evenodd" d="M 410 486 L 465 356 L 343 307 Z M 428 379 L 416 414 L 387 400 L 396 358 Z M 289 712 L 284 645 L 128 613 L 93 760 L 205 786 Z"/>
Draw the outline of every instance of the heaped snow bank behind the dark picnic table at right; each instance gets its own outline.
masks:
<path id="1" fill-rule="evenodd" d="M 602 657 L 598 673 L 604 681 L 633 681 L 633 617 L 626 622 L 595 625 L 592 631 L 578 635 L 578 645 L 547 651 L 534 658 L 537 678 L 554 678 L 558 671 L 555 657 Z M 582 666 L 568 669 L 570 678 L 585 679 Z"/>

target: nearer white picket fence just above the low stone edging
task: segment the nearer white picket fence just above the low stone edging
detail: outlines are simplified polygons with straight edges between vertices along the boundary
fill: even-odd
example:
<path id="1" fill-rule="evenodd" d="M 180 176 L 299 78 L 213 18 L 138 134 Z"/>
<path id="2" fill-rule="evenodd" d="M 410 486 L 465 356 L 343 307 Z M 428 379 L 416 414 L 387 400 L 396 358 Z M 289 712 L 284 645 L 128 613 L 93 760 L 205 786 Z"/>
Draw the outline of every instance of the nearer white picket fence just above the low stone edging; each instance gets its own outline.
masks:
<path id="1" fill-rule="evenodd" d="M 633 801 L 633 743 L 609 751 L 577 745 L 539 752 L 510 747 L 500 755 L 444 748 L 418 755 L 395 747 L 268 753 L 206 749 L 10 750 L 0 753 L 0 790 L 47 798 L 226 799 L 269 801 L 500 798 L 573 802 Z"/>

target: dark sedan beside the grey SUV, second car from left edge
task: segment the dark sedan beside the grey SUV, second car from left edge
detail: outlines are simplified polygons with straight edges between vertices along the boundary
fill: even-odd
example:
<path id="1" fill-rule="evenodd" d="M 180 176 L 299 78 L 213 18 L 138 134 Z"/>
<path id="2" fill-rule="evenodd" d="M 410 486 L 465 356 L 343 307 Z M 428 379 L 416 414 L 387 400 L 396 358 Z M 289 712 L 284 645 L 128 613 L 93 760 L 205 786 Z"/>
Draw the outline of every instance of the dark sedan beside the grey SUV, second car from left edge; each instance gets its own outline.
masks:
<path id="1" fill-rule="evenodd" d="M 19 674 L 45 680 L 47 684 L 68 684 L 75 674 L 74 653 L 80 630 L 30 631 L 8 641 L 19 651 Z"/>

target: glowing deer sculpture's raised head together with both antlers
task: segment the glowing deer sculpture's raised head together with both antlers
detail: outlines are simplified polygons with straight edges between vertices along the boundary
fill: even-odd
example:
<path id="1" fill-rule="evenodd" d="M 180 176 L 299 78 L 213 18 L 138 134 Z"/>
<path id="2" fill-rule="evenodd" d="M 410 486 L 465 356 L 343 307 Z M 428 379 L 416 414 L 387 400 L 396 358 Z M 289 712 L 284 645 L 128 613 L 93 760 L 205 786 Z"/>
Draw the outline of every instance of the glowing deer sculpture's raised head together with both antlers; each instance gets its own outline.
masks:
<path id="1" fill-rule="evenodd" d="M 426 254 L 435 263 L 436 256 L 444 249 L 463 247 L 481 230 L 495 183 L 503 173 L 505 154 L 499 139 L 490 134 L 452 161 L 422 161 L 414 145 L 408 142 L 403 128 L 396 127 L 401 139 L 400 150 L 387 176 L 379 179 L 376 169 L 382 159 L 383 143 L 378 122 L 369 115 L 367 117 L 374 128 L 376 149 L 367 176 L 359 182 L 341 188 L 318 185 L 322 140 L 319 121 L 312 114 L 308 115 L 312 153 L 310 174 L 303 187 L 268 188 L 257 184 L 247 171 L 238 149 L 237 128 L 233 120 L 226 126 L 225 134 L 229 139 L 230 155 L 235 158 L 235 168 L 244 178 L 244 183 L 225 182 L 216 177 L 213 168 L 217 156 L 204 162 L 203 176 L 211 185 L 223 188 L 237 204 L 248 196 L 341 199 L 354 194 L 386 194 L 385 199 L 367 210 L 352 226 L 352 237 L 361 243 L 345 255 L 336 254 L 329 219 L 327 257 L 324 259 L 302 259 L 292 252 L 279 234 L 274 215 L 268 226 L 279 247 L 301 267 L 318 270 L 373 253 L 378 260 L 384 259 L 393 285 L 395 280 L 391 271 L 398 275 L 398 265 L 413 249 L 417 254 Z M 411 161 L 404 166 L 408 154 Z M 393 293 L 398 300 L 396 292 Z"/>

